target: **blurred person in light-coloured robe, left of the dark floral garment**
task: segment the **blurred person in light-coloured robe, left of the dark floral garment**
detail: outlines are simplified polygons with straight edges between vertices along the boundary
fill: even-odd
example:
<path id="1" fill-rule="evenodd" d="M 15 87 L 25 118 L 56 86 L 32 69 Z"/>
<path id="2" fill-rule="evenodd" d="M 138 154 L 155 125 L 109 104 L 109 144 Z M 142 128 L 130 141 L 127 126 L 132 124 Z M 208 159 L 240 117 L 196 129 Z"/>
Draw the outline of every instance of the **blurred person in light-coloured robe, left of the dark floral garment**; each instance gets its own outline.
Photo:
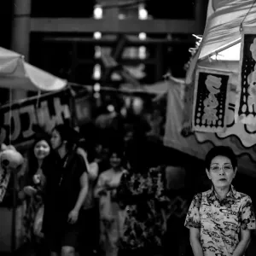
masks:
<path id="1" fill-rule="evenodd" d="M 111 168 L 102 172 L 95 189 L 95 196 L 99 198 L 100 247 L 106 256 L 118 255 L 118 241 L 123 230 L 125 211 L 115 200 L 116 189 L 125 173 L 123 158 L 121 151 L 112 151 L 109 159 Z"/>

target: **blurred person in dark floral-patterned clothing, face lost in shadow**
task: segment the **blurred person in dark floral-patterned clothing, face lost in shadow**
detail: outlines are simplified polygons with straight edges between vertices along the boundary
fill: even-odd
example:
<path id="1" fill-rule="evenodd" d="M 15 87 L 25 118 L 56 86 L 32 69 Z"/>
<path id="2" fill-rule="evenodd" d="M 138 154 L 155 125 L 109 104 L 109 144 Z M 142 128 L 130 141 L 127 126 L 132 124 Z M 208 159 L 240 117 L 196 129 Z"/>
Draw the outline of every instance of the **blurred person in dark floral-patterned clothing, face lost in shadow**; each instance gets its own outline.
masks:
<path id="1" fill-rule="evenodd" d="M 117 198 L 126 209 L 119 256 L 161 253 L 166 231 L 164 172 L 154 166 L 154 155 L 146 141 L 133 141 L 127 148 L 129 172 L 121 178 Z"/>

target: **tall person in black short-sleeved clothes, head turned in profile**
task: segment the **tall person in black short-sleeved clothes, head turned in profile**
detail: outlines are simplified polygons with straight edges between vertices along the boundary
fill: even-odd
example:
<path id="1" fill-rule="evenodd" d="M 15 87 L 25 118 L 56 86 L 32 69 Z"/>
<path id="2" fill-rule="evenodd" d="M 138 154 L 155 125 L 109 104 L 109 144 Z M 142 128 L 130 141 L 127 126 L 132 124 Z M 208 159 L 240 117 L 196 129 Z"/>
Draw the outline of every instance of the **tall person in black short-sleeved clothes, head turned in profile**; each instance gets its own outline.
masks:
<path id="1" fill-rule="evenodd" d="M 77 150 L 77 133 L 67 125 L 52 131 L 51 146 L 58 167 L 47 177 L 44 224 L 51 255 L 75 255 L 79 239 L 79 213 L 88 191 L 84 158 Z"/>

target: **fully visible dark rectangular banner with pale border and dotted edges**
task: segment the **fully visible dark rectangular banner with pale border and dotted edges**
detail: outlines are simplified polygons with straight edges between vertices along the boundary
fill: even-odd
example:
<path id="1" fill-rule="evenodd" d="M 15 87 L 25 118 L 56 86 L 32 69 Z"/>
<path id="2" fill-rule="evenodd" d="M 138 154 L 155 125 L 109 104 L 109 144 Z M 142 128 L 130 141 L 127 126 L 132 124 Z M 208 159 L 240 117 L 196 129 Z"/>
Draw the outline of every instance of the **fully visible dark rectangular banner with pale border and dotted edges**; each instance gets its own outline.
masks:
<path id="1" fill-rule="evenodd" d="M 197 69 L 192 115 L 194 131 L 225 131 L 229 80 L 230 73 Z"/>

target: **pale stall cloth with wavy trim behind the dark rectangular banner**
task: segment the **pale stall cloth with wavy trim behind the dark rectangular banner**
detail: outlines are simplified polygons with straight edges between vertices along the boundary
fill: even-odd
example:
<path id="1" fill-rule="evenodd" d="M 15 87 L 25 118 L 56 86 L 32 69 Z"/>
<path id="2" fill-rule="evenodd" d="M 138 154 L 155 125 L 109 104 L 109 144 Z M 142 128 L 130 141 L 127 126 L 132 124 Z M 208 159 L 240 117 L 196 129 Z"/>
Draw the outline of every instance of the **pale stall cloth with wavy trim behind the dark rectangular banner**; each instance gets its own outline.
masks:
<path id="1" fill-rule="evenodd" d="M 192 132 L 187 129 L 188 126 L 184 127 L 183 121 L 187 113 L 181 90 L 184 88 L 179 84 L 169 87 L 164 144 L 202 160 L 205 159 L 212 146 L 229 146 L 233 148 L 238 158 L 240 172 L 256 177 L 256 146 L 254 146 L 256 136 L 249 133 L 247 125 L 235 123 L 235 104 L 229 102 L 228 115 L 230 119 L 226 132 Z M 229 94 L 232 95 L 230 100 L 235 100 L 236 90 L 229 90 Z M 231 119 L 232 116 L 233 119 Z M 251 128 L 253 129 L 253 127 Z M 251 131 L 253 133 L 253 130 Z M 243 143 L 247 143 L 247 146 L 244 146 Z"/>

